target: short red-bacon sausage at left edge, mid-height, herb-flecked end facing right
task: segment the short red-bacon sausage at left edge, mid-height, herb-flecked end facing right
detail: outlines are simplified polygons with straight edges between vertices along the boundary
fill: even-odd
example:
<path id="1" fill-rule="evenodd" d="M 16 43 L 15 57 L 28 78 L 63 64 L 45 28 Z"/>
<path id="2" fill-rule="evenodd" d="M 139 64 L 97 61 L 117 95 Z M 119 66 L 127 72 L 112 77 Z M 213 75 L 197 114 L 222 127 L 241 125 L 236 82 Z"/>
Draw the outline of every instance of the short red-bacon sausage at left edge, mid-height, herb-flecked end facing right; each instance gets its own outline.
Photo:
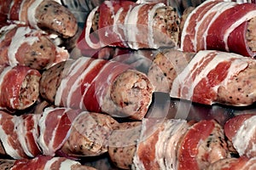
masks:
<path id="1" fill-rule="evenodd" d="M 0 109 L 24 110 L 39 96 L 41 74 L 27 66 L 0 66 Z"/>

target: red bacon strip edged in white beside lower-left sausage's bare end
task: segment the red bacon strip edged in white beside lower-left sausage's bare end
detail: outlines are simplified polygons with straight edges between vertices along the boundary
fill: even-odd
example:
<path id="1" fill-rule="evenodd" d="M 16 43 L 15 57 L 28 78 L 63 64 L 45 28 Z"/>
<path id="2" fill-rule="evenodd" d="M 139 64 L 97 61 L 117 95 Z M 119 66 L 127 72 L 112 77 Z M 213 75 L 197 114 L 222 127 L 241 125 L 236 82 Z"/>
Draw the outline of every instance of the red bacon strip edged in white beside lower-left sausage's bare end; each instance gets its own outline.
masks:
<path id="1" fill-rule="evenodd" d="M 69 137 L 72 122 L 80 113 L 79 110 L 67 108 L 47 108 L 38 122 L 40 135 L 38 144 L 44 155 L 55 156 Z"/>

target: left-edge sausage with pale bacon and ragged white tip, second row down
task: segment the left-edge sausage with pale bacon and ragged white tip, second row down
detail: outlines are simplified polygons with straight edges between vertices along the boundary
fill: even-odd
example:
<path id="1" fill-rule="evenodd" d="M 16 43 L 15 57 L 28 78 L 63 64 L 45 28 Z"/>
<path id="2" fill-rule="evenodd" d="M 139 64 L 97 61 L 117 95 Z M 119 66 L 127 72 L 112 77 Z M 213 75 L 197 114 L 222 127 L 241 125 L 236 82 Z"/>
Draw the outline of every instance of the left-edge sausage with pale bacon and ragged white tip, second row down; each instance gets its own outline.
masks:
<path id="1" fill-rule="evenodd" d="M 26 65 L 43 70 L 69 58 L 67 50 L 56 46 L 44 31 L 9 24 L 0 33 L 0 65 Z"/>

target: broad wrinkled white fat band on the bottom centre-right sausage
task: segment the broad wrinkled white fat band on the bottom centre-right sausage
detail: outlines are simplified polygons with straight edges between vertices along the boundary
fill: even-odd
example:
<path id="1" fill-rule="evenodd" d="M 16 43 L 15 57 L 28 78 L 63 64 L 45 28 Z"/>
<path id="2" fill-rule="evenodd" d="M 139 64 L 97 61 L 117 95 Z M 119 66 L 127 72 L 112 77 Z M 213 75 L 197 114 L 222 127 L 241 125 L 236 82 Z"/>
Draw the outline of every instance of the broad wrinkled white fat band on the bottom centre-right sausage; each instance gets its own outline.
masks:
<path id="1" fill-rule="evenodd" d="M 159 134 L 159 140 L 155 144 L 155 158 L 162 170 L 177 169 L 177 142 L 183 135 L 185 120 L 171 119 L 164 122 L 164 130 Z"/>

